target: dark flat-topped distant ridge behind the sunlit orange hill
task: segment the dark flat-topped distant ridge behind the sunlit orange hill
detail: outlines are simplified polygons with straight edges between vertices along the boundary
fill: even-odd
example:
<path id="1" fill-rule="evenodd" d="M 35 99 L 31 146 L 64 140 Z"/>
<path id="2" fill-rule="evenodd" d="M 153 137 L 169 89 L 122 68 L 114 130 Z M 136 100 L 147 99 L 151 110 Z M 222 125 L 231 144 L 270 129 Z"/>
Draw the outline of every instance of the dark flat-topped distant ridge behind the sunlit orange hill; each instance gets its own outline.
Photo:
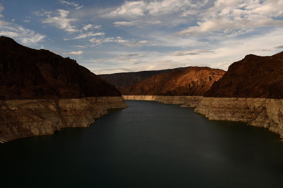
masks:
<path id="1" fill-rule="evenodd" d="M 161 74 L 161 73 L 169 73 L 174 70 L 185 70 L 188 67 L 179 67 L 175 69 L 164 69 L 158 71 L 139 71 L 139 72 L 130 72 L 130 73 L 114 73 L 114 74 L 101 74 L 98 75 L 101 78 L 105 79 L 109 83 L 112 83 L 119 90 L 138 83 L 141 80 L 152 77 L 153 75 Z"/>

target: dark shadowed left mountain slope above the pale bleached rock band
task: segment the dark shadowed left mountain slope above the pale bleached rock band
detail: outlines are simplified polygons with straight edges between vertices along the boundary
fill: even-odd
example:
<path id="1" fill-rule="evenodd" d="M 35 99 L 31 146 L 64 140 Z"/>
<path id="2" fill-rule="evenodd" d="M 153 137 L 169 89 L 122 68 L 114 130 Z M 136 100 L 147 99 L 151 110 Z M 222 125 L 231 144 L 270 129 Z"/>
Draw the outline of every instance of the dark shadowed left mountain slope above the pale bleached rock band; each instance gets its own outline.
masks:
<path id="1" fill-rule="evenodd" d="M 121 96 L 76 60 L 0 37 L 0 99 Z"/>

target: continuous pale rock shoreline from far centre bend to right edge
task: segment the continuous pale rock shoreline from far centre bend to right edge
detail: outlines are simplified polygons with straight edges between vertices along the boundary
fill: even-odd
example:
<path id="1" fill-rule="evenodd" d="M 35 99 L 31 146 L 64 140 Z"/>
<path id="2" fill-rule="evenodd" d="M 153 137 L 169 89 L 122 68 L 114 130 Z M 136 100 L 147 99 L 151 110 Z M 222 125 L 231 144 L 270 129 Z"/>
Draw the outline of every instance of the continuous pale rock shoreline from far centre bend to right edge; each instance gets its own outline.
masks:
<path id="1" fill-rule="evenodd" d="M 241 121 L 268 128 L 283 138 L 283 99 L 213 98 L 202 96 L 122 96 L 124 100 L 154 100 L 194 107 L 210 120 Z M 282 139 L 283 141 L 283 139 Z"/>

